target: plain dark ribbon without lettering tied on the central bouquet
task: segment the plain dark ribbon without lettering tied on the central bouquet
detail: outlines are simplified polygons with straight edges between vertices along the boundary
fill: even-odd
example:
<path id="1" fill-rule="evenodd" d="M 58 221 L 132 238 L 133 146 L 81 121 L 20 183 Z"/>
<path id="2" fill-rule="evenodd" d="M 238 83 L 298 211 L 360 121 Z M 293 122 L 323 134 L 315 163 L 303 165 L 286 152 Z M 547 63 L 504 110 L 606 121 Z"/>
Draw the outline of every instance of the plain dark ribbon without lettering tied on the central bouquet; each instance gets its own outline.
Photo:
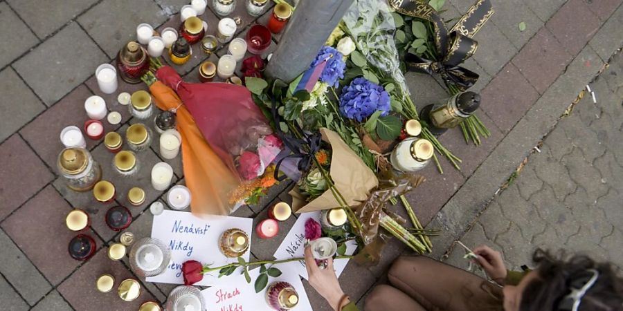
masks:
<path id="1" fill-rule="evenodd" d="M 281 163 L 283 162 L 283 160 L 287 158 L 300 159 L 297 166 L 298 170 L 302 172 L 309 171 L 309 169 L 311 169 L 311 163 L 313 162 L 316 153 L 318 153 L 318 151 L 320 150 L 320 143 L 323 140 L 323 136 L 320 133 L 305 133 L 305 131 L 303 131 L 303 129 L 301 129 L 300 126 L 296 124 L 296 122 L 292 122 L 292 126 L 294 126 L 294 129 L 296 129 L 298 133 L 301 133 L 303 135 L 303 139 L 295 138 L 293 135 L 281 131 L 281 127 L 279 124 L 282 121 L 281 116 L 277 112 L 277 101 L 275 100 L 275 98 L 272 99 L 271 113 L 273 115 L 273 120 L 275 120 L 276 124 L 276 134 L 281 139 L 285 147 L 287 149 L 290 149 L 290 151 L 292 152 L 291 154 L 285 156 L 277 162 L 275 167 L 275 179 L 278 181 L 282 181 L 287 178 L 287 176 L 285 175 L 279 176 L 279 167 L 281 167 Z M 305 148 L 305 146 L 307 146 L 307 148 Z M 309 152 L 305 152 L 306 149 L 308 149 Z"/>

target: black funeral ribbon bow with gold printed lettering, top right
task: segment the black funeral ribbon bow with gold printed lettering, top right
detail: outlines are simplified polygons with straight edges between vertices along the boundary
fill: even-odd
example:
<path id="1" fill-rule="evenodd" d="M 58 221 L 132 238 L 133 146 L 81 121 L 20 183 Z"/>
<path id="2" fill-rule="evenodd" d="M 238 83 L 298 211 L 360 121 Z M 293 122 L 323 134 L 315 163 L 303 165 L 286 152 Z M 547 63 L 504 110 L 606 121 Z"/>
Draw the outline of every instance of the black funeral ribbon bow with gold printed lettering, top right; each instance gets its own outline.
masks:
<path id="1" fill-rule="evenodd" d="M 494 13 L 490 0 L 476 1 L 450 30 L 437 11 L 426 3 L 417 0 L 388 0 L 388 3 L 396 12 L 430 21 L 435 28 L 433 37 L 439 59 L 407 53 L 405 63 L 408 70 L 430 75 L 437 73 L 444 82 L 457 86 L 460 91 L 476 84 L 478 73 L 459 65 L 476 53 L 478 42 L 472 37 Z"/>

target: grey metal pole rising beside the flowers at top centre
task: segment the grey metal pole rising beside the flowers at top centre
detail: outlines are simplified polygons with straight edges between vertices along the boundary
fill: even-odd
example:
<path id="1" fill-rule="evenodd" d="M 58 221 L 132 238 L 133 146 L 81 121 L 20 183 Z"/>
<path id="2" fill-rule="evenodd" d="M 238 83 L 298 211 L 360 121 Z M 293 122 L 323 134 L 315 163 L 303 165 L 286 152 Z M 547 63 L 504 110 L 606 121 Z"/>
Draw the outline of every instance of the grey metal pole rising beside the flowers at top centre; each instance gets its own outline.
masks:
<path id="1" fill-rule="evenodd" d="M 309 68 L 352 1 L 299 1 L 264 73 L 287 83 L 296 79 Z"/>

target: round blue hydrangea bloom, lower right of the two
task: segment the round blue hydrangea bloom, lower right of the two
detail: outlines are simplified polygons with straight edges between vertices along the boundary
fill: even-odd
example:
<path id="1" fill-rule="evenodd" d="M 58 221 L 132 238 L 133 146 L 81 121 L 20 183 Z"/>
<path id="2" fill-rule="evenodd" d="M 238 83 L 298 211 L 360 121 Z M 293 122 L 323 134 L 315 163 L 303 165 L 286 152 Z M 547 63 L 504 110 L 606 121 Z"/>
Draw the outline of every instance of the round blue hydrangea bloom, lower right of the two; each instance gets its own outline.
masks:
<path id="1" fill-rule="evenodd" d="M 342 89 L 340 113 L 349 119 L 361 122 L 376 111 L 383 111 L 381 115 L 388 115 L 390 109 L 389 94 L 383 87 L 368 79 L 357 77 Z"/>

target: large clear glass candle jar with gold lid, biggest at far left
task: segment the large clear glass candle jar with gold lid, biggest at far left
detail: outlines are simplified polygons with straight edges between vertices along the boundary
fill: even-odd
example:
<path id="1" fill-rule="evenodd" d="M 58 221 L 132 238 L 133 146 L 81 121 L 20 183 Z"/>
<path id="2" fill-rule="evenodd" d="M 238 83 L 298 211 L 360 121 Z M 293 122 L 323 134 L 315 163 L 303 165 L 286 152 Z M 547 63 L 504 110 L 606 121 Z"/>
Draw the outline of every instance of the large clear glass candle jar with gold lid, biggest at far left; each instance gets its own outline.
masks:
<path id="1" fill-rule="evenodd" d="M 61 151 L 57 160 L 60 175 L 73 191 L 89 191 L 102 179 L 102 168 L 87 149 L 70 147 Z"/>

